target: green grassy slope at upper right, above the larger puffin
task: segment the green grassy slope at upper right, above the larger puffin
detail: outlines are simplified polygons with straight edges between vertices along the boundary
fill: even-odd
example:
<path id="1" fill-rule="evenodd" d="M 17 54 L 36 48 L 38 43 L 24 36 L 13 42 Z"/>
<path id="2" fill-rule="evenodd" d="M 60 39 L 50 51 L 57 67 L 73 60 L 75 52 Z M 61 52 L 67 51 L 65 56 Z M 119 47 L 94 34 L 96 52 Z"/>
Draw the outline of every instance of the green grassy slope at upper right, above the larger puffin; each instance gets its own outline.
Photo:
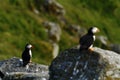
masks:
<path id="1" fill-rule="evenodd" d="M 66 17 L 83 27 L 97 26 L 113 43 L 120 43 L 119 0 L 59 0 L 64 5 Z M 104 3 L 104 4 L 103 4 Z M 114 38 L 113 38 L 114 37 Z"/>

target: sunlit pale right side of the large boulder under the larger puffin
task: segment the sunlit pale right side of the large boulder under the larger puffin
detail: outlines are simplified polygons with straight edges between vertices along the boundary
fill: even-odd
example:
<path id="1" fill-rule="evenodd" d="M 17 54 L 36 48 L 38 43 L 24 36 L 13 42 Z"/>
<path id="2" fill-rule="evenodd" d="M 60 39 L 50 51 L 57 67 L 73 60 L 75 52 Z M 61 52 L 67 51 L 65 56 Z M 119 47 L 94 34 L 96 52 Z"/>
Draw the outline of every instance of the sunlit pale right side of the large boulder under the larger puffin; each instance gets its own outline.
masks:
<path id="1" fill-rule="evenodd" d="M 106 77 L 111 78 L 111 80 L 120 80 L 120 55 L 113 51 L 102 50 L 100 48 L 95 48 L 95 52 L 99 53 L 109 64 L 106 70 Z"/>

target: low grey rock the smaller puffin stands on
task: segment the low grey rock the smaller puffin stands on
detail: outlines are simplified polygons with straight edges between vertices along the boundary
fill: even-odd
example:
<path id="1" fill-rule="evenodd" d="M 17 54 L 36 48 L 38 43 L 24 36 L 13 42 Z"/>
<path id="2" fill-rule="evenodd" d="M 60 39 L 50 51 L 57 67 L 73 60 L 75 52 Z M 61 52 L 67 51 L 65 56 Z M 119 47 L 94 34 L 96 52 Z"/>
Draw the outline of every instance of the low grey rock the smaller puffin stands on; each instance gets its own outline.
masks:
<path id="1" fill-rule="evenodd" d="M 19 58 L 0 61 L 0 71 L 5 75 L 3 80 L 48 80 L 48 66 L 30 63 L 22 67 Z"/>

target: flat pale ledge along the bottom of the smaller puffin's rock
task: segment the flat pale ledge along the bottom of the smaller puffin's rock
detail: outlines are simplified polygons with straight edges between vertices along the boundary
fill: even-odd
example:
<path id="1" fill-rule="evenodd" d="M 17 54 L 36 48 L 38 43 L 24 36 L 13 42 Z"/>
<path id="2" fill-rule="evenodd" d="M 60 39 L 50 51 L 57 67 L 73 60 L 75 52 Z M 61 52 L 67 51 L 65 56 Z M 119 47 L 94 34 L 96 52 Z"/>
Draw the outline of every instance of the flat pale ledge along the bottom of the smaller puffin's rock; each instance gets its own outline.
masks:
<path id="1" fill-rule="evenodd" d="M 12 72 L 6 75 L 3 80 L 48 80 L 45 75 L 43 73 Z"/>

